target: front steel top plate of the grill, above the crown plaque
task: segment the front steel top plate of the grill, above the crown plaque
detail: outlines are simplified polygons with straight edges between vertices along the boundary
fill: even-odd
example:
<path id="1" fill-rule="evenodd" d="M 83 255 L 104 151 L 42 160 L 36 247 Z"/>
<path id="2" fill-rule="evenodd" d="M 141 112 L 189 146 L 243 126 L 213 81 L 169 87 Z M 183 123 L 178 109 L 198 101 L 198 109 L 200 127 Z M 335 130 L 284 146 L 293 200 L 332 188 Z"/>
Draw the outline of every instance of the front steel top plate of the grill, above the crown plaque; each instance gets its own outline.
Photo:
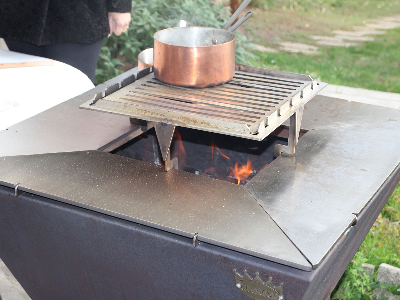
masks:
<path id="1" fill-rule="evenodd" d="M 0 183 L 302 270 L 310 263 L 243 186 L 80 151 L 0 158 Z M 262 238 L 261 238 L 262 237 Z"/>

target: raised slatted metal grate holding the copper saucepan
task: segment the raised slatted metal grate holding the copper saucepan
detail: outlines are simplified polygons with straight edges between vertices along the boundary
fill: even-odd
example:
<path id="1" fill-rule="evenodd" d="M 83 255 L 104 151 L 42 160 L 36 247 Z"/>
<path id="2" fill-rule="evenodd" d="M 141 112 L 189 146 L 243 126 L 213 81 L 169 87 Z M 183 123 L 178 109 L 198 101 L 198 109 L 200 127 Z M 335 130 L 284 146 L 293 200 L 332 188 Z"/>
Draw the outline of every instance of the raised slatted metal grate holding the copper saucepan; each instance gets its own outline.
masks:
<path id="1" fill-rule="evenodd" d="M 325 85 L 306 75 L 241 65 L 232 80 L 207 88 L 172 86 L 150 73 L 81 107 L 262 140 Z"/>

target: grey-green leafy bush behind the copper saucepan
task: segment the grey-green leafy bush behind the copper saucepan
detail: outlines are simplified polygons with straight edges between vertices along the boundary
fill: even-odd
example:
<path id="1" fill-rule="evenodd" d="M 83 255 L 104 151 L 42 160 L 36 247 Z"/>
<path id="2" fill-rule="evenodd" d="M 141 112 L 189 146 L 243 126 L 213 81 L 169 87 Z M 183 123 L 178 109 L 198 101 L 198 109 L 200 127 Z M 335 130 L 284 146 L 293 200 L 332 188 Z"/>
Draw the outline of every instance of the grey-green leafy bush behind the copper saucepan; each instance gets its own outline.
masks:
<path id="1" fill-rule="evenodd" d="M 136 61 L 142 50 L 153 46 L 153 34 L 156 31 L 177 27 L 180 19 L 186 20 L 187 26 L 221 28 L 230 17 L 228 8 L 210 0 L 135 0 L 132 1 L 131 15 L 130 27 L 125 33 L 106 39 L 104 47 L 108 48 L 110 57 L 100 56 L 98 69 L 104 65 L 110 66 L 110 60 L 115 62 L 117 57 L 123 57 L 130 63 Z M 236 62 L 249 64 L 248 58 L 254 58 L 254 55 L 243 47 L 247 38 L 238 30 L 235 34 Z M 102 77 L 96 77 L 96 84 L 115 76 L 115 72 L 107 70 L 97 71 Z"/>

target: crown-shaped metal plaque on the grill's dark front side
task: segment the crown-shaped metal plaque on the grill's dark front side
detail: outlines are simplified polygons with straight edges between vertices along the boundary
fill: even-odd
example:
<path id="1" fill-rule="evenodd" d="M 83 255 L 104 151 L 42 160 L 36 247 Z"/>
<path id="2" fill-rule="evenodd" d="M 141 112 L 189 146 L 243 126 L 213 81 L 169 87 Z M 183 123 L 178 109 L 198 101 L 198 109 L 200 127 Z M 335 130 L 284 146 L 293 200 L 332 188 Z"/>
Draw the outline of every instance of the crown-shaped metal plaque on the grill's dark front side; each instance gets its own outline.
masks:
<path id="1" fill-rule="evenodd" d="M 269 277 L 267 282 L 262 282 L 258 272 L 256 272 L 256 277 L 252 279 L 246 270 L 243 270 L 244 275 L 240 276 L 236 270 L 232 270 L 235 273 L 236 287 L 252 299 L 255 300 L 283 300 L 282 286 L 274 286 L 272 284 L 272 277 Z"/>

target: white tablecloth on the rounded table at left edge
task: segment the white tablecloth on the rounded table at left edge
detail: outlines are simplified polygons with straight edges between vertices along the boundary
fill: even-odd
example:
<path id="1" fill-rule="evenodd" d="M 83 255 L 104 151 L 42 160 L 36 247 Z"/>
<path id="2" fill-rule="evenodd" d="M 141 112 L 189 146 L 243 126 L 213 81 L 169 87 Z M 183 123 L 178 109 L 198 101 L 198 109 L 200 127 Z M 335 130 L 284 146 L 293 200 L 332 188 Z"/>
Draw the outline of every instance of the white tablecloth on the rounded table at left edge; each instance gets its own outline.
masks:
<path id="1" fill-rule="evenodd" d="M 5 53 L 2 51 L 1 55 Z M 93 87 L 85 74 L 62 62 L 56 61 L 53 66 L 0 68 L 0 130 Z"/>

